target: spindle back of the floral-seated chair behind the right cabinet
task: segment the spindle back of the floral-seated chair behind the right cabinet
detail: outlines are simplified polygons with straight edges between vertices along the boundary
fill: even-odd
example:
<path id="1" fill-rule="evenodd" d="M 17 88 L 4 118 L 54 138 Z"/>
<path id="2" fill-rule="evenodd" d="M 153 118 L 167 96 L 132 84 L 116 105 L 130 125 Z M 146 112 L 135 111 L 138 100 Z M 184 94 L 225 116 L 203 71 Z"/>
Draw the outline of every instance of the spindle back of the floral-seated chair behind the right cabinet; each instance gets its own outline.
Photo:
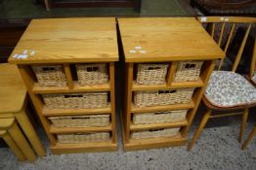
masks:
<path id="1" fill-rule="evenodd" d="M 220 48 L 223 49 L 223 51 L 226 53 L 226 56 L 227 56 L 227 51 L 231 44 L 231 40 L 233 39 L 235 31 L 237 30 L 237 27 L 239 26 L 239 24 L 246 25 L 246 32 L 242 37 L 241 44 L 239 45 L 238 51 L 235 54 L 235 62 L 232 67 L 232 71 L 235 72 L 238 66 L 238 63 L 240 61 L 242 51 L 244 50 L 245 43 L 248 38 L 251 26 L 254 23 L 256 23 L 256 17 L 198 17 L 197 19 L 202 24 L 207 23 L 207 28 L 209 28 L 208 30 L 209 34 L 213 39 L 216 36 L 216 34 L 217 35 L 219 34 L 219 36 L 217 37 L 216 43 L 220 46 Z M 216 31 L 216 25 L 218 23 L 221 25 L 221 28 L 219 31 Z M 224 31 L 225 31 L 225 27 L 228 24 L 231 24 L 231 28 L 226 32 L 227 33 L 226 42 L 224 42 Z M 224 44 L 222 44 L 223 42 Z M 218 68 L 219 70 L 222 67 L 223 61 L 224 61 L 224 58 L 221 59 L 220 61 L 219 68 Z"/>

